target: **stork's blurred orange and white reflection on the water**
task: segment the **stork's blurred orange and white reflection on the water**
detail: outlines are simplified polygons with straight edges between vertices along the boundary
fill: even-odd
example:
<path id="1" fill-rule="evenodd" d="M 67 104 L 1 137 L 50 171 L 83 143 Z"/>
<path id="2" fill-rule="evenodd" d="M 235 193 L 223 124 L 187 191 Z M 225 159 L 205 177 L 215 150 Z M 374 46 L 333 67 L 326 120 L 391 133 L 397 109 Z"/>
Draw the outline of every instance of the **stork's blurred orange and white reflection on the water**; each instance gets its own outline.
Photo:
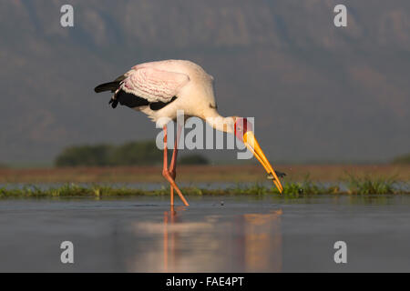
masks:
<path id="1" fill-rule="evenodd" d="M 164 213 L 164 272 L 282 271 L 282 210 L 183 221 L 181 206 Z"/>

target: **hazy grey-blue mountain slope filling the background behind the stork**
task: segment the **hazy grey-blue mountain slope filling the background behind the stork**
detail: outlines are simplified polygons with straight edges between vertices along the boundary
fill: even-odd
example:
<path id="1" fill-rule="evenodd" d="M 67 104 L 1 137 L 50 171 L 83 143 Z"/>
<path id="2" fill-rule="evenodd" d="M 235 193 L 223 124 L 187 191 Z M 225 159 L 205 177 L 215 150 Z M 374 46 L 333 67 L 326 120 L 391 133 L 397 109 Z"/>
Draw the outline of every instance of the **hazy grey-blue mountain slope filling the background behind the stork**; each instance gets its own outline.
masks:
<path id="1" fill-rule="evenodd" d="M 60 25 L 66 3 L 74 27 Z M 337 4 L 347 27 L 333 25 Z M 154 137 L 93 88 L 167 58 L 213 75 L 220 113 L 255 116 L 273 161 L 385 161 L 410 147 L 407 0 L 13 0 L 0 15 L 0 161 Z"/>

